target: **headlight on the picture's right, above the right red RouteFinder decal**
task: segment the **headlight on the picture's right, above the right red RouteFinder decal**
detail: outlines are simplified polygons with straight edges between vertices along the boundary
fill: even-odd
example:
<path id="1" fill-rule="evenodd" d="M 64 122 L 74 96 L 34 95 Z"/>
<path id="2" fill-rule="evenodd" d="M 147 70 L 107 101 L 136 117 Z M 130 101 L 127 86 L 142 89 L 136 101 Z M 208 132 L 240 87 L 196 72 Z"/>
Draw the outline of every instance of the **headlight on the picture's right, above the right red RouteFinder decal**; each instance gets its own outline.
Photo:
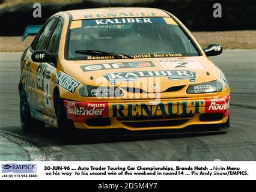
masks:
<path id="1" fill-rule="evenodd" d="M 195 85 L 189 85 L 187 88 L 187 94 L 203 94 L 209 92 L 221 92 L 223 90 L 223 83 L 220 80 L 213 82 L 200 83 Z"/>

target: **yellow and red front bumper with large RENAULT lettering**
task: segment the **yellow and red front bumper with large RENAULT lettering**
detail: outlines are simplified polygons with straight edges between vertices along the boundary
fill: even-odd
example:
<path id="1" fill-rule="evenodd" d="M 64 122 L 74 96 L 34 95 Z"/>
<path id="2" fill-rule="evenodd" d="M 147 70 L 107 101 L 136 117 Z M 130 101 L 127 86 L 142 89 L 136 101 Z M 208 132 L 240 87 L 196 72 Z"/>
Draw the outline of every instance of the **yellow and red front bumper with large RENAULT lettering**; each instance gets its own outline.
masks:
<path id="1" fill-rule="evenodd" d="M 127 130 L 181 129 L 228 121 L 230 94 L 206 99 L 79 102 L 64 100 L 67 118 L 76 128 Z"/>

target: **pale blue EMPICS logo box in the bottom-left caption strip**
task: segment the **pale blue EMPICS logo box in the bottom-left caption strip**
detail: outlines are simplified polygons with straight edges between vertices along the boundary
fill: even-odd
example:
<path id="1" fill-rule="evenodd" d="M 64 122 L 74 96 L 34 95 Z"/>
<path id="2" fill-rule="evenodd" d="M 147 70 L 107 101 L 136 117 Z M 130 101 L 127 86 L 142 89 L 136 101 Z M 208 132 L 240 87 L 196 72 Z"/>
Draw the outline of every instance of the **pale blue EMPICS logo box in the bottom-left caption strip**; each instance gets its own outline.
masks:
<path id="1" fill-rule="evenodd" d="M 2 164 L 2 173 L 36 173 L 37 164 Z"/>

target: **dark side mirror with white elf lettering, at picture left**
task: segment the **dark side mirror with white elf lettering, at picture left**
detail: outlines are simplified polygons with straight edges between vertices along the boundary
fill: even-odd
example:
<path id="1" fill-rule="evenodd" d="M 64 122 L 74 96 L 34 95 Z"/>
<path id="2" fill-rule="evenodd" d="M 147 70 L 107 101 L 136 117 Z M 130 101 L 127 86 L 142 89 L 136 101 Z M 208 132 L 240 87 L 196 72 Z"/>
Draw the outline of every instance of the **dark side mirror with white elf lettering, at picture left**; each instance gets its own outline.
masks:
<path id="1" fill-rule="evenodd" d="M 51 62 L 54 65 L 57 64 L 57 55 L 47 52 L 47 50 L 36 50 L 31 55 L 31 59 L 34 62 Z"/>

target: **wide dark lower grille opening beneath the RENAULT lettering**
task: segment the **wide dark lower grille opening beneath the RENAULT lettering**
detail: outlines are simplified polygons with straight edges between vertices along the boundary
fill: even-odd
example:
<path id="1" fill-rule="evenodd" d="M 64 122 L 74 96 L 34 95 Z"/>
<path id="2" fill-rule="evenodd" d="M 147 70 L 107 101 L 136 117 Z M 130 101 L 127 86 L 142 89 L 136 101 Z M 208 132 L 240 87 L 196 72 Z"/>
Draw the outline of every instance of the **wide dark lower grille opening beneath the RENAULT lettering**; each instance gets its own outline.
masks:
<path id="1" fill-rule="evenodd" d="M 142 127 L 172 127 L 184 124 L 188 119 L 181 120 L 167 120 L 167 121 L 142 121 L 142 122 L 122 122 L 124 125 L 134 128 L 142 128 Z"/>

